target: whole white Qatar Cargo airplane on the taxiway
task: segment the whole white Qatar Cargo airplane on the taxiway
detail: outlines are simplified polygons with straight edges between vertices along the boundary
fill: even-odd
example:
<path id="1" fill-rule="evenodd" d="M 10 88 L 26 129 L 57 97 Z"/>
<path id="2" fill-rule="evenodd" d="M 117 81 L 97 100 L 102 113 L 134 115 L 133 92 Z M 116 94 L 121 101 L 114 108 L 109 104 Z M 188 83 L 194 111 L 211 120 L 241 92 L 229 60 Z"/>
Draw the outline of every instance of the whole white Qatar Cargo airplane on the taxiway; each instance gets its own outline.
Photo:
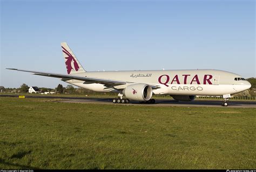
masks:
<path id="1" fill-rule="evenodd" d="M 152 95 L 170 95 L 177 101 L 193 101 L 196 95 L 223 96 L 227 106 L 231 95 L 251 88 L 240 75 L 223 70 L 131 70 L 86 71 L 66 42 L 61 43 L 68 74 L 19 70 L 35 75 L 61 78 L 62 81 L 99 92 L 116 92 L 113 103 L 129 100 L 155 103 Z"/>

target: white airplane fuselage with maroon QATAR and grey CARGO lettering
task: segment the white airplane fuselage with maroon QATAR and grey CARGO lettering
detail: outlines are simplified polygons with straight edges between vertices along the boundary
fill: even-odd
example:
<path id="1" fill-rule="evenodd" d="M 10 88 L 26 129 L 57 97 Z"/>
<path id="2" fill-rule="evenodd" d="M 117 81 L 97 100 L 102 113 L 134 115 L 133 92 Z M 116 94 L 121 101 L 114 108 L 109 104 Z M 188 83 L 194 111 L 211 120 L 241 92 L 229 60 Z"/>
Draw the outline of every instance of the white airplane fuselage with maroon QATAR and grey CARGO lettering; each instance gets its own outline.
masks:
<path id="1" fill-rule="evenodd" d="M 131 70 L 87 71 L 79 76 L 104 78 L 106 80 L 147 83 L 158 85 L 154 95 L 215 95 L 235 94 L 251 87 L 240 75 L 223 70 Z M 235 78 L 241 78 L 235 80 Z M 100 92 L 118 92 L 113 87 L 78 80 L 65 81 L 78 87 Z"/>

